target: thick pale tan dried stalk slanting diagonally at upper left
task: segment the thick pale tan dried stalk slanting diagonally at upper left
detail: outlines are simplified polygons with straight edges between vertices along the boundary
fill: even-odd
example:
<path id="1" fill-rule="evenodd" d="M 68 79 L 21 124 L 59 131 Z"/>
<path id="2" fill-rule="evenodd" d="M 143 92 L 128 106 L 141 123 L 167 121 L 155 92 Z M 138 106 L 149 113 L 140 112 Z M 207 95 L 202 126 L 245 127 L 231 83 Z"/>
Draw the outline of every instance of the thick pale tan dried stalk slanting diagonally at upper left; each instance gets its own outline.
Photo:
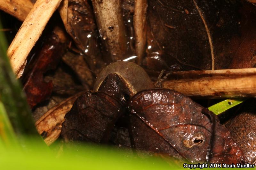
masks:
<path id="1" fill-rule="evenodd" d="M 60 2 L 61 0 L 37 0 L 13 39 L 8 48 L 7 55 L 10 58 L 12 69 L 16 73 L 17 78 L 22 76 L 30 50 L 42 34 L 47 22 L 58 8 Z"/>

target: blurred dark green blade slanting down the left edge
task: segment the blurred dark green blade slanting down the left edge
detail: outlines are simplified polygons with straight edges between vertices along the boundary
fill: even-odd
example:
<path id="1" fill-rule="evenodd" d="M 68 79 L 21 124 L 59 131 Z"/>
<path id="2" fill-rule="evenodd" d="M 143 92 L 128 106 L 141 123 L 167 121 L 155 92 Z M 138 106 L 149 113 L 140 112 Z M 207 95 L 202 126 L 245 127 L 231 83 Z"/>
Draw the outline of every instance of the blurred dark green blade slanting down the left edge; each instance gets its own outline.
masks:
<path id="1" fill-rule="evenodd" d="M 0 29 L 2 29 L 1 22 Z M 20 82 L 12 71 L 6 50 L 5 35 L 3 31 L 0 31 L 0 101 L 9 119 L 7 120 L 7 117 L 5 117 L 6 120 L 4 121 L 11 122 L 12 129 L 20 143 L 23 143 L 22 141 L 25 141 L 28 137 L 41 138 L 35 128 L 30 108 L 21 90 Z"/>

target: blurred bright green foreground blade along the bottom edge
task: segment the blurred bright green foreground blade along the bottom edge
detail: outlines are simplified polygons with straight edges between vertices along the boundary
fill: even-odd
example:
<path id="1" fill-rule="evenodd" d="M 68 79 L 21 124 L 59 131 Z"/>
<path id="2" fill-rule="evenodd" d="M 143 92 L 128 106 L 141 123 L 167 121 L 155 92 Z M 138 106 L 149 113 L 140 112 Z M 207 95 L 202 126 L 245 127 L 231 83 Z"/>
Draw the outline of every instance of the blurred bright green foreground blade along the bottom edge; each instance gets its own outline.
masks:
<path id="1" fill-rule="evenodd" d="M 51 152 L 45 152 L 41 147 L 31 152 L 10 149 L 0 152 L 0 165 L 4 170 L 17 168 L 19 170 L 164 170 L 181 169 L 183 166 L 177 163 L 170 165 L 156 157 L 146 156 L 141 159 L 123 150 L 96 145 L 83 145 L 68 150 L 64 148 L 64 152 L 58 157 Z"/>

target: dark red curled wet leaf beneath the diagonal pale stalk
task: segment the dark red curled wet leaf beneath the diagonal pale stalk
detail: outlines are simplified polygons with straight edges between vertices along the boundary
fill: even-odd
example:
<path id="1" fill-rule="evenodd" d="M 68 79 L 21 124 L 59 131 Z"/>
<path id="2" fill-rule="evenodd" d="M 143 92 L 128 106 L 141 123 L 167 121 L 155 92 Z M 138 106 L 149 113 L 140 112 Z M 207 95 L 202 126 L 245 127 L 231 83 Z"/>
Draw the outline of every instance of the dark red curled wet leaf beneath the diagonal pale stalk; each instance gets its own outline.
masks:
<path id="1" fill-rule="evenodd" d="M 44 73 L 56 68 L 64 49 L 65 44 L 61 42 L 57 34 L 53 33 L 44 42 L 42 49 L 36 53 L 35 57 L 38 59 L 24 85 L 24 91 L 31 108 L 50 97 L 53 84 L 52 81 L 44 81 Z"/>

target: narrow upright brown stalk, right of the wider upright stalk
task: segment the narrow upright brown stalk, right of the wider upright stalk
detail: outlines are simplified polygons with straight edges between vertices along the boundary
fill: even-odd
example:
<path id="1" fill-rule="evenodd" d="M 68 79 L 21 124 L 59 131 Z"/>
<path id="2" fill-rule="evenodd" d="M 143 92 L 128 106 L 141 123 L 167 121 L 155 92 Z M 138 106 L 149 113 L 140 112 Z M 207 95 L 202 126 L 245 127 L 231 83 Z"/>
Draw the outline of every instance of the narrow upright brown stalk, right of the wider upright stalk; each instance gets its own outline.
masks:
<path id="1" fill-rule="evenodd" d="M 135 32 L 135 48 L 140 64 L 146 51 L 147 43 L 147 0 L 135 0 L 133 26 Z"/>

